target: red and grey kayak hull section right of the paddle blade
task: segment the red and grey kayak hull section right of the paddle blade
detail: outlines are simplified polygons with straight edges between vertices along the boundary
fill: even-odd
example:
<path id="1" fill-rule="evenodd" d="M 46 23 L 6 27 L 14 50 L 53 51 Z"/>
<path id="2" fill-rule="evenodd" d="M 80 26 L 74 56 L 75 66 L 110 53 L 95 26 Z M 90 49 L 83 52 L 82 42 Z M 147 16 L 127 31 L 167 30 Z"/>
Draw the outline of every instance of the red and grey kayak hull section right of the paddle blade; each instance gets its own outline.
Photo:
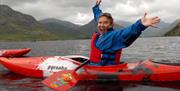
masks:
<path id="1" fill-rule="evenodd" d="M 124 66 L 125 64 L 123 64 Z M 154 63 L 151 60 L 126 64 L 125 67 L 111 66 L 111 71 L 84 67 L 78 71 L 80 80 L 120 80 L 120 81 L 180 81 L 180 66 Z M 120 65 L 119 65 L 120 66 Z M 81 69 L 82 70 L 82 69 Z"/>

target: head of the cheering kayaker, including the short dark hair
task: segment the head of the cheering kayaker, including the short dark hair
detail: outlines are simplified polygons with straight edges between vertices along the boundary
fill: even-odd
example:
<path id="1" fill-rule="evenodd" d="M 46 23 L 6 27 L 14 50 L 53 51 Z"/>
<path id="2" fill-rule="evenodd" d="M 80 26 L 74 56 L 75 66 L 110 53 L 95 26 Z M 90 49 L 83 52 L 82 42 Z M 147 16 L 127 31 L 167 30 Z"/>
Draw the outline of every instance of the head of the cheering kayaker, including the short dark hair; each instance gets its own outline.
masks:
<path id="1" fill-rule="evenodd" d="M 109 28 L 113 27 L 113 25 L 113 18 L 110 13 L 103 13 L 99 16 L 98 31 L 100 34 L 107 32 Z"/>

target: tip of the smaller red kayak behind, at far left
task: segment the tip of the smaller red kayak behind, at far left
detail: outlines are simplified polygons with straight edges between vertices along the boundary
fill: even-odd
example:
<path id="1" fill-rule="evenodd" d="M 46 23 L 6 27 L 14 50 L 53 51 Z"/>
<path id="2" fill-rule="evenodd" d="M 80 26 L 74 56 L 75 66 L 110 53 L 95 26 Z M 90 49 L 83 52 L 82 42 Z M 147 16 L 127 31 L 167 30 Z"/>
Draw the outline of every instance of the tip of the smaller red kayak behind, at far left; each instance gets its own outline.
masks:
<path id="1" fill-rule="evenodd" d="M 20 57 L 31 51 L 30 48 L 0 50 L 0 57 Z"/>

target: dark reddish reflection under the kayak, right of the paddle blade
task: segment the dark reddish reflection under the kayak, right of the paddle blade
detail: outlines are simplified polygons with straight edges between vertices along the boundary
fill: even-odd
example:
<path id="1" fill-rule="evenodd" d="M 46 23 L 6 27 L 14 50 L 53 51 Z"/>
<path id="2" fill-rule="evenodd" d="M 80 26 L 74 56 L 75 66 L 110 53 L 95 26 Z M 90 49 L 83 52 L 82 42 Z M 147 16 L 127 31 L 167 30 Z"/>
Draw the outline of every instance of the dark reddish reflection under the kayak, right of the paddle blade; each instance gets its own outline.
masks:
<path id="1" fill-rule="evenodd" d="M 72 91 L 179 91 L 180 82 L 80 82 Z"/>

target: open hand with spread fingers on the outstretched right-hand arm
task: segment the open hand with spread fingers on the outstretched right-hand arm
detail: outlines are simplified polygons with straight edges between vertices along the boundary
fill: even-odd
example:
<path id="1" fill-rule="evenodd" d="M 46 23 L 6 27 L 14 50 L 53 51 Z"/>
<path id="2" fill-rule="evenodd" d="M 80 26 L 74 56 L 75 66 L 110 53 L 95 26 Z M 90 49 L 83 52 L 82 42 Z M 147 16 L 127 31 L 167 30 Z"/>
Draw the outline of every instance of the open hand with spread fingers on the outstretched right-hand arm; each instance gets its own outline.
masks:
<path id="1" fill-rule="evenodd" d="M 144 26 L 150 26 L 150 27 L 155 27 L 156 25 L 160 22 L 159 17 L 152 17 L 152 18 L 147 18 L 147 13 L 144 13 L 144 17 L 141 19 L 141 22 Z"/>

